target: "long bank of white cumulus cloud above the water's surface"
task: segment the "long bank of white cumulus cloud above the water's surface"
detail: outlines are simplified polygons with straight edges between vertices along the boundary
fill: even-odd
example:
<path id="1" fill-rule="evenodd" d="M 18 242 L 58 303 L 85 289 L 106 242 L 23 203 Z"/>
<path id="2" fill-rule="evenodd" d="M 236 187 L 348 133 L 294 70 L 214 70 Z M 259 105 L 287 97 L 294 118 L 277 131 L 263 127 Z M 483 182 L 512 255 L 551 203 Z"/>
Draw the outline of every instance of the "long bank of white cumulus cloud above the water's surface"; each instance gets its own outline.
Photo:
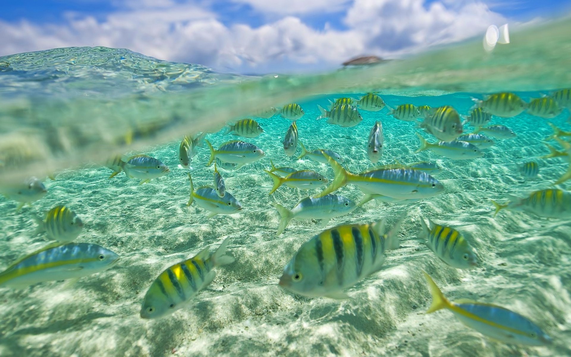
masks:
<path id="1" fill-rule="evenodd" d="M 505 22 L 481 2 L 451 8 L 442 2 L 426 6 L 423 0 L 356 0 L 345 14 L 344 30 L 317 30 L 291 15 L 260 27 L 224 25 L 216 13 L 197 5 L 147 3 L 123 7 L 103 20 L 69 14 L 59 24 L 0 21 L 0 55 L 65 46 L 126 47 L 160 59 L 259 73 L 336 67 L 361 54 L 396 57 Z"/>

